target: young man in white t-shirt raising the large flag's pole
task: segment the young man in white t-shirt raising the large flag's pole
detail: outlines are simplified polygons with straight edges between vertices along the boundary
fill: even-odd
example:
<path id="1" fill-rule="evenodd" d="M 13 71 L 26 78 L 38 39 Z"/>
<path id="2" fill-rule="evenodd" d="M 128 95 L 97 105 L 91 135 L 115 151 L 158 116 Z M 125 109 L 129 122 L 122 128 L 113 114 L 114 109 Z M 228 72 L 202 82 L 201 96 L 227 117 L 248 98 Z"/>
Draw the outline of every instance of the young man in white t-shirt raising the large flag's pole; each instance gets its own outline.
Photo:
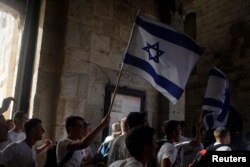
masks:
<path id="1" fill-rule="evenodd" d="M 64 167 L 81 166 L 83 160 L 83 149 L 87 148 L 98 135 L 98 133 L 109 125 L 110 116 L 103 118 L 101 123 L 87 136 L 87 123 L 80 116 L 69 116 L 66 118 L 66 131 L 68 136 L 60 140 L 56 148 L 57 164 L 61 165 L 64 157 L 71 153 Z M 85 136 L 85 137 L 84 137 Z"/>

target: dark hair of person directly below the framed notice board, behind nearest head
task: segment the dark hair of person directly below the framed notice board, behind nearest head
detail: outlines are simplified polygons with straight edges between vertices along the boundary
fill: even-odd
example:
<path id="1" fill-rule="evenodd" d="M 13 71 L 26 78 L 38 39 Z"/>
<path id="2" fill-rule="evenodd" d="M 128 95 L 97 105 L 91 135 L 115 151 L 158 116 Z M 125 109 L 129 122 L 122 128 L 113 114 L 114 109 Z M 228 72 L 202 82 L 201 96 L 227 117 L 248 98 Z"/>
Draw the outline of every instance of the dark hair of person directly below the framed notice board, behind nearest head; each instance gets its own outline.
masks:
<path id="1" fill-rule="evenodd" d="M 147 114 L 145 112 L 131 112 L 128 114 L 126 122 L 129 129 L 144 125 Z"/>

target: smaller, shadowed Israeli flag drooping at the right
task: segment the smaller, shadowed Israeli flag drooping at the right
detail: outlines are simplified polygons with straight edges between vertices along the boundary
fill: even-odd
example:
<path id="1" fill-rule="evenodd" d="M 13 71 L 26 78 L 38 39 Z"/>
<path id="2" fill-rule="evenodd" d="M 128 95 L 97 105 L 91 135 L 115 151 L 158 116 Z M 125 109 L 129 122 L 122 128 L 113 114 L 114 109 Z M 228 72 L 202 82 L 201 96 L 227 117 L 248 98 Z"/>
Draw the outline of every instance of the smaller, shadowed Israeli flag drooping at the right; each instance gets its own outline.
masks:
<path id="1" fill-rule="evenodd" d="M 227 123 L 230 106 L 229 83 L 226 76 L 218 68 L 210 70 L 207 89 L 203 100 L 202 109 L 210 111 L 203 123 L 208 129 L 223 127 Z"/>

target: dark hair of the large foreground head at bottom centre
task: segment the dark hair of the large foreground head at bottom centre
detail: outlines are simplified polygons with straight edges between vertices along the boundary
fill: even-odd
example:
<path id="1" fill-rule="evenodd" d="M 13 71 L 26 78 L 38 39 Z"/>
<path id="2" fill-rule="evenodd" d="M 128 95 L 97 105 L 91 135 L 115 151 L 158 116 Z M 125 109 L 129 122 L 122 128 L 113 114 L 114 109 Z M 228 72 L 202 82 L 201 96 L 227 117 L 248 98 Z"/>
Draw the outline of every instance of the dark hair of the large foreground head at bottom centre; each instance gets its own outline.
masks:
<path id="1" fill-rule="evenodd" d="M 152 145 L 155 130 L 148 126 L 139 126 L 130 130 L 125 139 L 131 156 L 138 157 L 143 153 L 143 146 Z"/>

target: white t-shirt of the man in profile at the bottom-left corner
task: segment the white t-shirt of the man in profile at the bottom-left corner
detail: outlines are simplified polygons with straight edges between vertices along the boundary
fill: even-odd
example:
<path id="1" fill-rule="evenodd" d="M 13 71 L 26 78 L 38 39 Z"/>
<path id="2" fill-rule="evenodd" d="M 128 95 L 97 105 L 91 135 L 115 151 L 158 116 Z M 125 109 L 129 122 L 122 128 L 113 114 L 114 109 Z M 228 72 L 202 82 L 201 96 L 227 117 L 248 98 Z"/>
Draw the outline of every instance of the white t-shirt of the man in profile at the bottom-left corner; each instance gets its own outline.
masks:
<path id="1" fill-rule="evenodd" d="M 36 150 L 24 141 L 11 143 L 0 152 L 0 164 L 6 167 L 36 167 Z"/>

